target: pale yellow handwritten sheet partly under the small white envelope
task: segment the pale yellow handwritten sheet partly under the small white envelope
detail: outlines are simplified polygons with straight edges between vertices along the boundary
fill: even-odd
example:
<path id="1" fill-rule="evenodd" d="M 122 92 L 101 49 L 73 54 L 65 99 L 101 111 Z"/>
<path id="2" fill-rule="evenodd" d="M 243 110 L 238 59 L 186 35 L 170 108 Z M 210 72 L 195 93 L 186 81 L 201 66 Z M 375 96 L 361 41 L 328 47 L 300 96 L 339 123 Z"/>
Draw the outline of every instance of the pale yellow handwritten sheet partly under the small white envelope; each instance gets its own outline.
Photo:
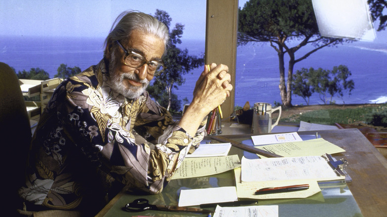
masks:
<path id="1" fill-rule="evenodd" d="M 324 140 L 323 138 L 301 142 L 285 142 L 281 144 L 257 146 L 257 148 L 275 153 L 282 157 L 322 156 L 326 153 L 331 155 L 345 152 L 344 149 Z"/>

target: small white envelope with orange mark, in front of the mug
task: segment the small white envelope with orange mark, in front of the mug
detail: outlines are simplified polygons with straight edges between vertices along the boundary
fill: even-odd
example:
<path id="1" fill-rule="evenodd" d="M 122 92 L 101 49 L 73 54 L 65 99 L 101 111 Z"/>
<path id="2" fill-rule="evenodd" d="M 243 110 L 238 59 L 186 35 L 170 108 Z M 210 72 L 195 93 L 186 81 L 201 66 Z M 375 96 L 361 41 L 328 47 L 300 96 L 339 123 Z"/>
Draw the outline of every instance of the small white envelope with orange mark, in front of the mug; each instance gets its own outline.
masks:
<path id="1" fill-rule="evenodd" d="M 252 136 L 255 146 L 302 141 L 297 132 Z"/>

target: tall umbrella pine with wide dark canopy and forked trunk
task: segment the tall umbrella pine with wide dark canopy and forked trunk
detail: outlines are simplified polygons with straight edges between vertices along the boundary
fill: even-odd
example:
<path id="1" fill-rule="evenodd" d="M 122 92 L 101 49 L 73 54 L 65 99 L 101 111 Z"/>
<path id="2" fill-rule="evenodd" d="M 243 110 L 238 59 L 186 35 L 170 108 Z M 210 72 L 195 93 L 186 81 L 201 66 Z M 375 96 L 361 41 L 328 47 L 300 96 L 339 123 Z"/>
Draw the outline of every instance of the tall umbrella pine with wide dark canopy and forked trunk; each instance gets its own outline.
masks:
<path id="1" fill-rule="evenodd" d="M 342 39 L 320 35 L 311 0 L 250 0 L 239 9 L 238 43 L 268 42 L 277 52 L 279 61 L 279 89 L 282 105 L 291 107 L 294 64 L 314 52 L 342 43 Z M 313 49 L 296 57 L 306 45 Z M 293 47 L 291 47 L 293 46 Z M 284 56 L 289 56 L 285 83 Z"/>

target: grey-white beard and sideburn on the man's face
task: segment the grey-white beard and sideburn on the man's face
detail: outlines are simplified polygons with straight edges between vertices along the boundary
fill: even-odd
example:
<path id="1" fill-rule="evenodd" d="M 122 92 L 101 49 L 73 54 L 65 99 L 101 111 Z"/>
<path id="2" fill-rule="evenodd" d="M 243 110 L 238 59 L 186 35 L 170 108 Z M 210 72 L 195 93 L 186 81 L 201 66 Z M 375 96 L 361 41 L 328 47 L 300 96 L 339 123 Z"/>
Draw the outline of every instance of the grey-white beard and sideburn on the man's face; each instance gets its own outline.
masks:
<path id="1" fill-rule="evenodd" d="M 112 53 L 112 57 L 109 62 L 109 73 L 111 79 L 111 88 L 117 93 L 127 97 L 129 99 L 137 99 L 144 93 L 146 87 L 149 85 L 147 79 L 139 80 L 134 73 L 113 73 L 116 66 L 116 55 L 115 52 Z M 124 84 L 124 79 L 128 78 L 130 80 L 139 82 L 142 84 L 141 87 L 129 86 L 126 87 Z"/>

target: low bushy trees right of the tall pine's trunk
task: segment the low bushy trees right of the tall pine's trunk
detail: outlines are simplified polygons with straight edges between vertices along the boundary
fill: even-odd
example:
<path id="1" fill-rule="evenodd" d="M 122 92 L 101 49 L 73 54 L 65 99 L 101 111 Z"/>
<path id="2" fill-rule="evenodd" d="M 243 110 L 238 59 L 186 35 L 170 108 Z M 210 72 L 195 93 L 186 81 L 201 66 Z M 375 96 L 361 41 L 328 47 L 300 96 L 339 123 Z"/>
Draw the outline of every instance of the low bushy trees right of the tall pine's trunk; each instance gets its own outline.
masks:
<path id="1" fill-rule="evenodd" d="M 322 68 L 315 70 L 313 67 L 309 68 L 309 70 L 302 68 L 297 70 L 294 75 L 292 89 L 308 105 L 309 97 L 313 93 L 318 93 L 324 104 L 328 102 L 332 104 L 333 96 L 338 94 L 339 97 L 343 97 L 344 90 L 348 90 L 348 94 L 351 95 L 351 91 L 355 87 L 354 81 L 349 79 L 351 75 L 352 73 L 346 65 L 334 66 L 333 70 Z"/>

